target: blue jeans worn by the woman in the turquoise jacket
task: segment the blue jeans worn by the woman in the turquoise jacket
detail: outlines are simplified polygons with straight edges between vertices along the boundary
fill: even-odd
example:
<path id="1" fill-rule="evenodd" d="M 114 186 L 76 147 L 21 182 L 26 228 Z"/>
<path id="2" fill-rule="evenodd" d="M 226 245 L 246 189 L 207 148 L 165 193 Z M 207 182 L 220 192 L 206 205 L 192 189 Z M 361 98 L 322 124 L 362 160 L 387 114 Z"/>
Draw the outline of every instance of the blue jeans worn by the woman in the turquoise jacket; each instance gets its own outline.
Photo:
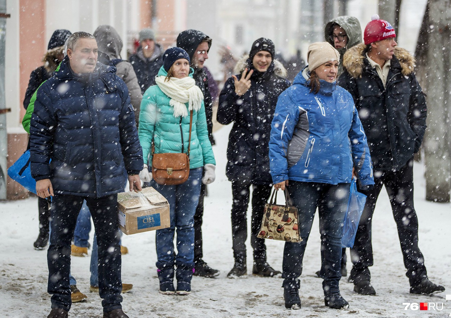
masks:
<path id="1" fill-rule="evenodd" d="M 170 227 L 156 230 L 156 255 L 159 263 L 194 268 L 194 213 L 199 202 L 203 168 L 189 170 L 186 182 L 163 186 L 152 180 L 151 186 L 169 202 Z M 176 229 L 177 228 L 177 229 Z M 177 232 L 177 255 L 174 259 L 174 235 Z"/>

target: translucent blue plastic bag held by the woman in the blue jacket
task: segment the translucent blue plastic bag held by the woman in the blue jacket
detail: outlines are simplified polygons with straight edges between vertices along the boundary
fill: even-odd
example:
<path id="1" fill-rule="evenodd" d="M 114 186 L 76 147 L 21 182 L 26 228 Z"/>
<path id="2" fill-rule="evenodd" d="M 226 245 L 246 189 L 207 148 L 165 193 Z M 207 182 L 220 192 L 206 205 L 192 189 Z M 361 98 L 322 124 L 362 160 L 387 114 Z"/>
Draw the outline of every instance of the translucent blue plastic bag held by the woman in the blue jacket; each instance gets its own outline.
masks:
<path id="1" fill-rule="evenodd" d="M 352 178 L 351 188 L 349 192 L 348 210 L 345 214 L 343 236 L 341 237 L 341 245 L 344 248 L 352 248 L 354 246 L 355 234 L 359 226 L 360 217 L 364 211 L 366 196 L 357 191 L 357 184 Z"/>

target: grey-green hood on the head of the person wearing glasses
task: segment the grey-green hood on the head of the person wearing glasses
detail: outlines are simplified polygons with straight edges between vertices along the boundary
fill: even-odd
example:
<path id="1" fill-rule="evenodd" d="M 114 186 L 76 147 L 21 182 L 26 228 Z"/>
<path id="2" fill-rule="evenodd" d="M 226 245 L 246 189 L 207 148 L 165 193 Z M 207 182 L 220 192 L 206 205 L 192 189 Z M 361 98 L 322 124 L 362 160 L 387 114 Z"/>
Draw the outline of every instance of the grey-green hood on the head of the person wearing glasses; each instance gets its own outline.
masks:
<path id="1" fill-rule="evenodd" d="M 326 28 L 324 28 L 324 38 L 333 47 L 335 47 L 334 42 L 329 38 L 329 36 L 333 33 L 334 26 L 336 24 L 341 26 L 341 28 L 345 30 L 346 35 L 348 36 L 348 44 L 346 44 L 346 47 L 338 50 L 341 55 L 344 54 L 348 48 L 362 43 L 362 28 L 360 27 L 359 20 L 357 18 L 345 15 L 332 19 L 326 24 Z"/>

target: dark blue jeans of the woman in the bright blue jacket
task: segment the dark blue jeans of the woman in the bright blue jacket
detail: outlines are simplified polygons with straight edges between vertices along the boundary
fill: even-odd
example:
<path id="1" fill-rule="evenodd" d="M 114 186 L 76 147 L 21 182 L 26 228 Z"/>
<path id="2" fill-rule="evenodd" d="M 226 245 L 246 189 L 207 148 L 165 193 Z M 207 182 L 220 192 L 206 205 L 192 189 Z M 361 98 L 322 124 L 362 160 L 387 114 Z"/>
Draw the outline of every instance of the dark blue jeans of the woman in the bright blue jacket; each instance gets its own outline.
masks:
<path id="1" fill-rule="evenodd" d="M 319 182 L 290 180 L 288 187 L 293 205 L 299 212 L 299 243 L 285 243 L 283 254 L 283 287 L 299 288 L 298 277 L 302 274 L 302 259 L 308 236 L 312 230 L 313 217 L 318 207 L 319 232 L 321 234 L 321 277 L 324 294 L 339 292 L 341 278 L 341 236 L 343 220 L 348 206 L 350 184 L 332 185 Z"/>

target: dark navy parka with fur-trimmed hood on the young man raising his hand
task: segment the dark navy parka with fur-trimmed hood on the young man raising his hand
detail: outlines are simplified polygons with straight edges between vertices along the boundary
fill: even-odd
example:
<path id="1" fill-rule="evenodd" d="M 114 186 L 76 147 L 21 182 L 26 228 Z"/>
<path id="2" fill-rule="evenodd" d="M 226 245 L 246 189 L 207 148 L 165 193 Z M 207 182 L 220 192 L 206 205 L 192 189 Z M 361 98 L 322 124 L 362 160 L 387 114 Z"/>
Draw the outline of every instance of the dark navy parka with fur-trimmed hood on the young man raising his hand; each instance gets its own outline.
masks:
<path id="1" fill-rule="evenodd" d="M 253 69 L 252 61 L 244 56 L 236 65 L 238 80 L 244 68 Z M 273 60 L 264 73 L 254 69 L 251 87 L 242 96 L 235 94 L 235 82 L 230 77 L 219 96 L 217 121 L 227 125 L 234 122 L 227 147 L 226 175 L 230 181 L 250 180 L 255 184 L 271 184 L 268 143 L 277 98 L 288 87 L 286 70 Z"/>

